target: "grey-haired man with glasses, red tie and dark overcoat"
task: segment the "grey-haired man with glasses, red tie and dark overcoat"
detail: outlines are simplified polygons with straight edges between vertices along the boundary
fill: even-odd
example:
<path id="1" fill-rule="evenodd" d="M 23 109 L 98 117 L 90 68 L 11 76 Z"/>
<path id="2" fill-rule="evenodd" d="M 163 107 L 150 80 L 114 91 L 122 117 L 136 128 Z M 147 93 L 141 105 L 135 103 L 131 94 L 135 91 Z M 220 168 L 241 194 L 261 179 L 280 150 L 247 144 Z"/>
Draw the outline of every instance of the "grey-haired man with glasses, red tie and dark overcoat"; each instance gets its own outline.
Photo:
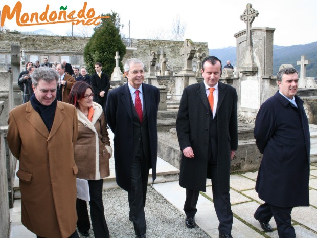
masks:
<path id="1" fill-rule="evenodd" d="M 106 116 L 115 134 L 116 181 L 128 191 L 129 219 L 136 237 L 146 237 L 144 206 L 150 168 L 153 182 L 156 178 L 160 91 L 143 83 L 141 60 L 127 60 L 124 70 L 128 83 L 109 92 Z"/>

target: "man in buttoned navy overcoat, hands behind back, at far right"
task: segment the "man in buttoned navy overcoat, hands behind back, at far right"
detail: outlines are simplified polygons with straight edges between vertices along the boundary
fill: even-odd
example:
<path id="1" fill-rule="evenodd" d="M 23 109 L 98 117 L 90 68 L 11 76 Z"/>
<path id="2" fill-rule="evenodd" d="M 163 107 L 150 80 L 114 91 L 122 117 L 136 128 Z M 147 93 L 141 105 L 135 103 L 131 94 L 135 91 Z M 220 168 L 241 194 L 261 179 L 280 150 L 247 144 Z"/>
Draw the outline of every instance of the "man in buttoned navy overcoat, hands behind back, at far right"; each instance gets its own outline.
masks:
<path id="1" fill-rule="evenodd" d="M 265 201 L 254 217 L 268 232 L 274 217 L 279 237 L 294 238 L 292 208 L 309 206 L 309 126 L 303 101 L 296 96 L 297 70 L 282 69 L 277 78 L 279 91 L 261 105 L 254 127 L 263 154 L 256 191 Z"/>

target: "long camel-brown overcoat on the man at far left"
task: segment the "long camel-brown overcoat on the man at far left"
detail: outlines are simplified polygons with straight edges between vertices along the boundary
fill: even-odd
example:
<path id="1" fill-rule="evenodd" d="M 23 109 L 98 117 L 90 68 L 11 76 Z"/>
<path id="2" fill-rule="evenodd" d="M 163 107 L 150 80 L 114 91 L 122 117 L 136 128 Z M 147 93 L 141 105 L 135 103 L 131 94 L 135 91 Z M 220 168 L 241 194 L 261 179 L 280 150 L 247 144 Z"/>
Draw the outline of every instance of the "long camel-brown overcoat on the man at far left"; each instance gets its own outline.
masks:
<path id="1" fill-rule="evenodd" d="M 31 102 L 11 110 L 8 124 L 8 145 L 20 161 L 22 223 L 38 236 L 69 237 L 77 222 L 75 107 L 57 102 L 51 132 Z"/>

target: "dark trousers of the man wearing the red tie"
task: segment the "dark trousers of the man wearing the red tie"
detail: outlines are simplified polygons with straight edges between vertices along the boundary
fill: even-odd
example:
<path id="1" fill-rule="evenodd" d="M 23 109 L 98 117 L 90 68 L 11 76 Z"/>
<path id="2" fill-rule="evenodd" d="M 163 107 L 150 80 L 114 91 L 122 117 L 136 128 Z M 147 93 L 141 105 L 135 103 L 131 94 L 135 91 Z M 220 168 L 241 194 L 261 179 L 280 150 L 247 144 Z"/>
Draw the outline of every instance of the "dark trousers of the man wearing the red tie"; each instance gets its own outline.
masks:
<path id="1" fill-rule="evenodd" d="M 130 216 L 137 235 L 146 233 L 145 199 L 149 177 L 149 163 L 140 146 L 137 156 L 133 158 L 131 167 L 131 190 L 128 192 Z"/>

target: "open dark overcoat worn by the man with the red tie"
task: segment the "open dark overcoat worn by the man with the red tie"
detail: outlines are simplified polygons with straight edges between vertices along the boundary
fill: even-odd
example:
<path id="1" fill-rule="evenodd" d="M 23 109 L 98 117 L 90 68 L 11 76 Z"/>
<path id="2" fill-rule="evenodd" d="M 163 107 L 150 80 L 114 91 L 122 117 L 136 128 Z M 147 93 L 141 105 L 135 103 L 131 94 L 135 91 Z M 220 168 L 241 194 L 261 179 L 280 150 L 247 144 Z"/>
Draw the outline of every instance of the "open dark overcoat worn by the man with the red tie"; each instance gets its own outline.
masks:
<path id="1" fill-rule="evenodd" d="M 153 181 L 156 178 L 157 160 L 157 111 L 159 110 L 160 91 L 155 86 L 142 84 L 144 102 L 146 107 L 147 129 L 149 135 L 149 149 Z M 126 191 L 130 191 L 131 163 L 134 157 L 134 145 L 138 138 L 134 135 L 133 103 L 128 83 L 108 94 L 106 105 L 107 122 L 111 131 L 115 134 L 115 167 L 117 184 Z M 140 125 L 142 126 L 142 125 Z"/>

